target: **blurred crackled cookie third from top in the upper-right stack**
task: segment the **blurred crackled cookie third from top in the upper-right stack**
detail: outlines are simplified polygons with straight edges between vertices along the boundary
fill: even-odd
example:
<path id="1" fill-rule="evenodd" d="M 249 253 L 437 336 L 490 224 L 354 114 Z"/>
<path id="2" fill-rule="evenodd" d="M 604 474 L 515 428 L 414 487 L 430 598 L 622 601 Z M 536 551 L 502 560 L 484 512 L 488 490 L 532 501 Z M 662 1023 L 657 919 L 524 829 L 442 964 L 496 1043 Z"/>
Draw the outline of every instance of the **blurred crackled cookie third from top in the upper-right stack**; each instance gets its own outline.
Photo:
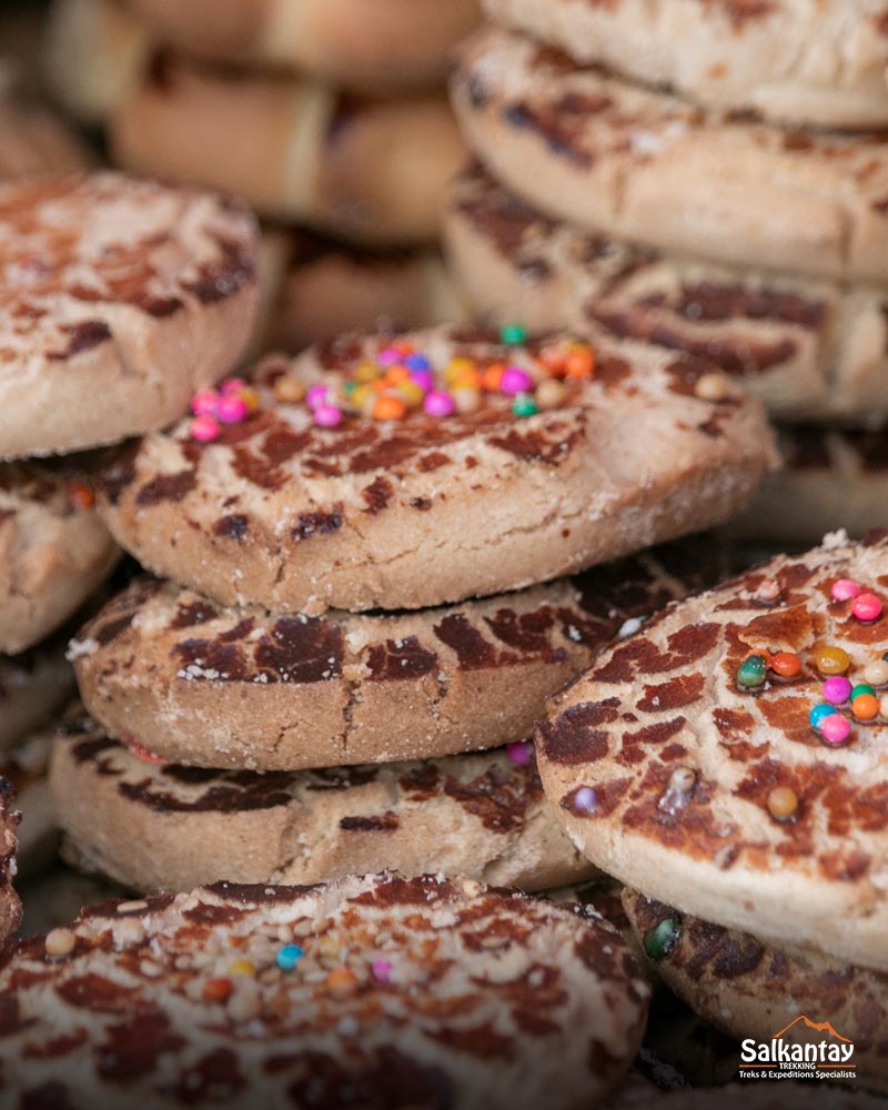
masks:
<path id="1" fill-rule="evenodd" d="M 784 420 L 875 427 L 888 417 L 881 287 L 695 262 L 579 231 L 481 167 L 455 183 L 444 234 L 475 319 L 695 354 Z"/>

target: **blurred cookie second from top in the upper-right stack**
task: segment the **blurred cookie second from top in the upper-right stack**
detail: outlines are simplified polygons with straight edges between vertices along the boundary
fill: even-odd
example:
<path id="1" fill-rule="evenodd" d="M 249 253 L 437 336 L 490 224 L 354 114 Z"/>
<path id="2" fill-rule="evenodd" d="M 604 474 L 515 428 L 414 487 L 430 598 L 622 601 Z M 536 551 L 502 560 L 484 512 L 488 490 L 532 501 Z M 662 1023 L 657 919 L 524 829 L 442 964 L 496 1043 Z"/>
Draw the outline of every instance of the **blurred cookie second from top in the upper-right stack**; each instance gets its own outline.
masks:
<path id="1" fill-rule="evenodd" d="M 884 137 L 726 120 L 498 29 L 463 48 L 452 93 L 475 154 L 551 215 L 735 265 L 885 281 Z"/>

